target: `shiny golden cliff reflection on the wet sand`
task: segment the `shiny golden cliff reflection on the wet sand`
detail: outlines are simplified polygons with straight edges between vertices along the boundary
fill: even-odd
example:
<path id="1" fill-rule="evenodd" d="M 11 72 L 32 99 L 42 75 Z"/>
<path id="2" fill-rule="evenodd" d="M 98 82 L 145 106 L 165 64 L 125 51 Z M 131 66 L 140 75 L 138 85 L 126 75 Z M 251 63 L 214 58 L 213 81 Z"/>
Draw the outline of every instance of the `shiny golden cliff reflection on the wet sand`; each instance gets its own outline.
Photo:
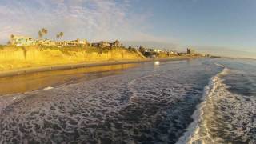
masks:
<path id="1" fill-rule="evenodd" d="M 138 65 L 138 63 L 132 63 L 110 66 L 93 66 L 0 78 L 0 95 L 24 93 L 27 91 L 43 89 L 47 86 L 58 86 L 64 83 L 81 82 L 108 75 L 120 74 L 120 70 Z"/>

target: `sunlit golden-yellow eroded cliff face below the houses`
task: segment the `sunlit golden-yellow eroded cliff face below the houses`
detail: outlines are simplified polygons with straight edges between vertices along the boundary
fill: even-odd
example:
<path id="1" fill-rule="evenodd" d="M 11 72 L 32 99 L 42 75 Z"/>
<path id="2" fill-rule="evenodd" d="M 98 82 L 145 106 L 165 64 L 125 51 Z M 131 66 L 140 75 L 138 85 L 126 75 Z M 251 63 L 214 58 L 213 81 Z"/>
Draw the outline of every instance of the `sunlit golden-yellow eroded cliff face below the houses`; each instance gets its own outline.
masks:
<path id="1" fill-rule="evenodd" d="M 80 62 L 138 59 L 143 59 L 142 54 L 121 48 L 99 51 L 97 48 L 53 49 L 37 46 L 6 46 L 0 49 L 0 70 L 14 70 L 34 66 L 50 66 Z"/>

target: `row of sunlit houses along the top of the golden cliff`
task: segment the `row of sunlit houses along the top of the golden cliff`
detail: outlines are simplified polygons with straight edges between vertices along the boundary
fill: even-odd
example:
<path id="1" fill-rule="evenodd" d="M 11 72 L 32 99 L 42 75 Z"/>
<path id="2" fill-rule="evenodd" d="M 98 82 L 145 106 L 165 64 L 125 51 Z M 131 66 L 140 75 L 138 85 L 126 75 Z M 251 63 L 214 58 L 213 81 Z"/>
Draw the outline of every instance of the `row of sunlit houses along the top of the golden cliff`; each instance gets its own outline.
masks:
<path id="1" fill-rule="evenodd" d="M 25 36 L 12 36 L 10 38 L 12 46 L 95 46 L 95 47 L 122 47 L 122 43 L 116 40 L 115 42 L 96 42 L 89 43 L 86 39 L 76 39 L 72 41 L 53 41 L 50 39 L 33 39 Z"/>

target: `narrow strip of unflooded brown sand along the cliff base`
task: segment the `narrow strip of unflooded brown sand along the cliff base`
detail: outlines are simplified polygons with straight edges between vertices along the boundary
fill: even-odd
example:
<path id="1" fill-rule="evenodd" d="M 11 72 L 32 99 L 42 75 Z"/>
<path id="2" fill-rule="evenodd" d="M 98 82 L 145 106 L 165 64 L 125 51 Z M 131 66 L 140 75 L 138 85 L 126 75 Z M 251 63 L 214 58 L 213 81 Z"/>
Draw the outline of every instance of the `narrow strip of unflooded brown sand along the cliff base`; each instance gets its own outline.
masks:
<path id="1" fill-rule="evenodd" d="M 26 67 L 14 70 L 2 70 L 0 71 L 0 78 L 10 77 L 21 74 L 33 74 L 37 72 L 52 71 L 52 70 L 69 70 L 77 69 L 82 67 L 94 67 L 94 66 L 110 66 L 110 65 L 120 65 L 129 63 L 140 63 L 140 62 L 154 62 L 154 61 L 178 61 L 189 58 L 202 58 L 202 57 L 190 57 L 190 56 L 180 56 L 180 57 L 170 57 L 170 58 L 145 58 L 138 60 L 118 60 L 118 61 L 102 61 L 102 62 L 82 62 L 73 64 L 62 64 L 62 65 L 50 65 L 50 66 L 35 66 Z"/>

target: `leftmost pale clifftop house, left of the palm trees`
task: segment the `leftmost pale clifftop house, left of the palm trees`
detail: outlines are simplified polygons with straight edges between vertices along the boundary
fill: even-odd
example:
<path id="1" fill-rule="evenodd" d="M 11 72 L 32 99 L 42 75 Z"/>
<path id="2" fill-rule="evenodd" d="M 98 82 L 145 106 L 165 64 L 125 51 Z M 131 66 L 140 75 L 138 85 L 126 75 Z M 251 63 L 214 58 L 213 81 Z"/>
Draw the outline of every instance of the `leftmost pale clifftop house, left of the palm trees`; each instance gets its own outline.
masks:
<path id="1" fill-rule="evenodd" d="M 10 44 L 12 46 L 34 46 L 36 42 L 31 37 L 12 35 Z"/>

